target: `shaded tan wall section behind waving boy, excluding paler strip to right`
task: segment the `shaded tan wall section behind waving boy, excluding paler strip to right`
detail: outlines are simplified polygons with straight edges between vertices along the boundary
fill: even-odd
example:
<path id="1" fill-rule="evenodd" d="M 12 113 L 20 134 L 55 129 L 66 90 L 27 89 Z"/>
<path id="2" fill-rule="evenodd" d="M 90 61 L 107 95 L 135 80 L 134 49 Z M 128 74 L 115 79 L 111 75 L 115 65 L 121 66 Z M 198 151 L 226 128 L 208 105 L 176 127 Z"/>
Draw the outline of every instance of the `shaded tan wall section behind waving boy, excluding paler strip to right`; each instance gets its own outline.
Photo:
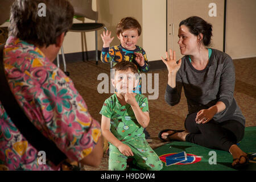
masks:
<path id="1" fill-rule="evenodd" d="M 119 44 L 119 40 L 115 35 L 115 27 L 119 20 L 126 16 L 133 16 L 142 24 L 142 0 L 93 0 L 93 10 L 98 11 L 98 22 L 104 23 L 109 31 L 112 31 L 114 36 L 110 46 Z M 85 19 L 84 22 L 94 22 L 93 20 Z M 74 19 L 74 23 L 81 23 L 81 20 Z M 102 30 L 98 30 L 98 50 L 102 48 L 102 39 L 100 34 Z M 95 32 L 86 32 L 86 46 L 82 47 L 81 33 L 68 32 L 64 40 L 64 52 L 81 52 L 95 50 Z M 138 45 L 142 46 L 142 38 L 138 41 Z"/>

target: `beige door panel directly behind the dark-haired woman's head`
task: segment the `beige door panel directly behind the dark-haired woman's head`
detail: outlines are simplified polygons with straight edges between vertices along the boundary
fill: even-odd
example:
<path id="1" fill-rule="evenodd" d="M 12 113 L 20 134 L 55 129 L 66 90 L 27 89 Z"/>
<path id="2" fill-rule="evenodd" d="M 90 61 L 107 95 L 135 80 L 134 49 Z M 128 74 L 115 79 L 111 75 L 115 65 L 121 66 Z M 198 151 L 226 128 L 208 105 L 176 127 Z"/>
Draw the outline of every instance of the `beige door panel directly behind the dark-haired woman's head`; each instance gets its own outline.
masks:
<path id="1" fill-rule="evenodd" d="M 224 0 L 167 0 L 167 49 L 183 57 L 177 42 L 179 24 L 189 16 L 200 16 L 213 25 L 212 48 L 223 50 Z"/>

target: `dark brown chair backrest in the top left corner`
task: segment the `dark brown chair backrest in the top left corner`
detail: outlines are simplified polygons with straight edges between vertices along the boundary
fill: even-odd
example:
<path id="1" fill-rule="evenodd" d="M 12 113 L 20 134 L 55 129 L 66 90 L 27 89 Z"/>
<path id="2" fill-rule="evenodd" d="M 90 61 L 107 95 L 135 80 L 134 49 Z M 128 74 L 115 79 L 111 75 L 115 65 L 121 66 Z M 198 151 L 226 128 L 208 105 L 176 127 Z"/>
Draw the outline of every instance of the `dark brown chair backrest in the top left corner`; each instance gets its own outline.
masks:
<path id="1" fill-rule="evenodd" d="M 15 0 L 1 0 L 0 1 L 0 24 L 3 24 L 6 22 L 7 19 L 10 19 L 10 10 L 11 5 L 13 5 L 13 2 Z"/>

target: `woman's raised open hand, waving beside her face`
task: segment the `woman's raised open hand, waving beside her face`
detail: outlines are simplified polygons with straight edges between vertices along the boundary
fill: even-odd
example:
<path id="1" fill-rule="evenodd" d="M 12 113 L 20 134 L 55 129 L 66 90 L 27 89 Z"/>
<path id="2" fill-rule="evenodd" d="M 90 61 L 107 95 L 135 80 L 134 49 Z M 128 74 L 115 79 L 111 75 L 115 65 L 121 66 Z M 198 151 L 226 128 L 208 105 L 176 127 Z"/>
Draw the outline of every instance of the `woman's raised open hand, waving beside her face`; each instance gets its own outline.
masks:
<path id="1" fill-rule="evenodd" d="M 172 54 L 172 49 L 170 49 L 170 55 L 168 55 L 168 52 L 166 52 L 166 59 L 163 59 L 163 57 L 161 56 L 164 64 L 166 64 L 166 67 L 168 69 L 169 74 L 176 74 L 177 71 L 179 71 L 180 69 L 180 65 L 181 65 L 181 59 L 179 60 L 179 63 L 176 63 L 176 54 L 175 51 Z"/>

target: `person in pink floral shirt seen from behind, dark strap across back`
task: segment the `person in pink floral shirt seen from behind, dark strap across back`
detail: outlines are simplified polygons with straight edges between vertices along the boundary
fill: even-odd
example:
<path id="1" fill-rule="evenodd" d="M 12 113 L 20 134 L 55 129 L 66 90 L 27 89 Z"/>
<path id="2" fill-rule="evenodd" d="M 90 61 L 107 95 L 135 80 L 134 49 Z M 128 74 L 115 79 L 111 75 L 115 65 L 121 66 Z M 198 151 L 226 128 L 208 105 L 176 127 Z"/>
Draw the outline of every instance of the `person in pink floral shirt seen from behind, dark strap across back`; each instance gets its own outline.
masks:
<path id="1" fill-rule="evenodd" d="M 38 16 L 39 3 L 46 4 L 46 16 Z M 18 104 L 45 137 L 69 160 L 98 166 L 103 154 L 100 123 L 72 80 L 52 63 L 72 21 L 73 7 L 66 0 L 16 0 L 3 50 L 5 75 Z M 39 164 L 38 152 L 0 102 L 0 170 L 60 169 L 51 161 Z"/>

